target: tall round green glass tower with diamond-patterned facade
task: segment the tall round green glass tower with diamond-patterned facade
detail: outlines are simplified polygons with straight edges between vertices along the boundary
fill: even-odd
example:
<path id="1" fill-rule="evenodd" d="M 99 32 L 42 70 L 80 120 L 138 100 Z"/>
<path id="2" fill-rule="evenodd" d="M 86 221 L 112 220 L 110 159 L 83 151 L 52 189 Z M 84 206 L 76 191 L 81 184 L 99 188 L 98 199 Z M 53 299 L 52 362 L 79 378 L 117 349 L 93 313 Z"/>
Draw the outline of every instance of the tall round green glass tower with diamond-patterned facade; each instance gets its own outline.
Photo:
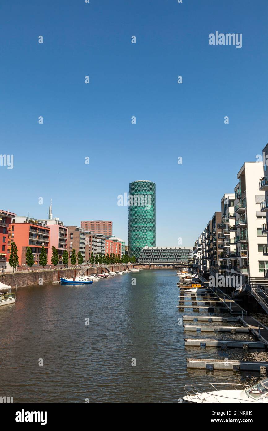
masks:
<path id="1" fill-rule="evenodd" d="M 129 256 L 138 259 L 143 247 L 155 247 L 155 183 L 129 183 Z"/>

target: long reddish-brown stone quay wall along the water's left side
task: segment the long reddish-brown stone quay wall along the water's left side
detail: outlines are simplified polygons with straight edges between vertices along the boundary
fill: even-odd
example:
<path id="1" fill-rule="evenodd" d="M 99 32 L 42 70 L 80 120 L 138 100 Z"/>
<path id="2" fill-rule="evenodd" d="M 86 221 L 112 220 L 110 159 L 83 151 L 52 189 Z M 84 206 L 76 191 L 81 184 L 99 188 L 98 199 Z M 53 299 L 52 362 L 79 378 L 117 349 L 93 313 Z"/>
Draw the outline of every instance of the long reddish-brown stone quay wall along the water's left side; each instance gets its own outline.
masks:
<path id="1" fill-rule="evenodd" d="M 131 268 L 132 265 L 113 265 L 109 266 L 110 271 L 123 271 Z M 29 271 L 29 272 L 14 272 L 12 274 L 1 274 L 0 282 L 13 287 L 34 286 L 40 284 L 40 278 L 43 278 L 43 284 L 58 281 L 60 277 L 74 277 L 80 269 L 52 269 L 51 271 Z M 108 272 L 105 267 L 93 267 L 86 270 L 84 275 L 97 274 L 100 272 Z"/>

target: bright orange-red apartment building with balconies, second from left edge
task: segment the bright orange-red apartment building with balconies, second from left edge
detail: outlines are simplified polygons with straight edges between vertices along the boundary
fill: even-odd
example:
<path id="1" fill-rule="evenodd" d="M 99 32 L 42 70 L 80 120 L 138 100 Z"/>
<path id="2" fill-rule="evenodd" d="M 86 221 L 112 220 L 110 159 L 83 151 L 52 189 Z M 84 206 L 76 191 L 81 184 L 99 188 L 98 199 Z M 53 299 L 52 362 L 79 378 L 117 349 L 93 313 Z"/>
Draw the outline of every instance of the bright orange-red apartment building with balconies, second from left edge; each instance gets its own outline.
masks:
<path id="1" fill-rule="evenodd" d="M 48 254 L 50 244 L 50 228 L 42 220 L 30 217 L 16 216 L 12 219 L 8 237 L 8 252 L 10 244 L 15 242 L 18 248 L 18 265 L 27 266 L 26 251 L 30 247 L 34 255 L 34 265 L 39 265 L 39 257 L 42 246 Z"/>

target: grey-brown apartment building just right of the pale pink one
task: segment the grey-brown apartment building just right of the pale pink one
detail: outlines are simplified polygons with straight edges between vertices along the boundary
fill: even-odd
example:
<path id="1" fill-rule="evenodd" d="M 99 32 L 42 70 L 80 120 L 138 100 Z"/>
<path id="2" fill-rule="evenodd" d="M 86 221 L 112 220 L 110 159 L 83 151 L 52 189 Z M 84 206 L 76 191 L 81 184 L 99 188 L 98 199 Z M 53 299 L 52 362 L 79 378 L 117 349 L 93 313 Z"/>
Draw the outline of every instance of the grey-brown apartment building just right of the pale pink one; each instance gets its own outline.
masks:
<path id="1" fill-rule="evenodd" d="M 89 263 L 89 244 L 86 241 L 86 232 L 78 226 L 66 226 L 68 228 L 68 253 L 71 259 L 73 250 L 75 253 L 80 251 L 83 256 L 83 263 Z M 69 260 L 69 265 L 71 262 Z"/>

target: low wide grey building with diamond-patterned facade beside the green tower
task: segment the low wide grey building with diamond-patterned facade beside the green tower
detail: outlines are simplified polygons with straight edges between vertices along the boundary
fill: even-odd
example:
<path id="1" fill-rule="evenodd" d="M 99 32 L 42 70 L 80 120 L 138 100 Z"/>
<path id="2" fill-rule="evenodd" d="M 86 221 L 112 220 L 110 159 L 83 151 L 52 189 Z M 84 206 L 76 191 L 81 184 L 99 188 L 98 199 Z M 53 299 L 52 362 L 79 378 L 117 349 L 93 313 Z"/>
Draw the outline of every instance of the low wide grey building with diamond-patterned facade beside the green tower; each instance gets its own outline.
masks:
<path id="1" fill-rule="evenodd" d="M 138 262 L 187 263 L 192 253 L 192 247 L 143 247 Z"/>

